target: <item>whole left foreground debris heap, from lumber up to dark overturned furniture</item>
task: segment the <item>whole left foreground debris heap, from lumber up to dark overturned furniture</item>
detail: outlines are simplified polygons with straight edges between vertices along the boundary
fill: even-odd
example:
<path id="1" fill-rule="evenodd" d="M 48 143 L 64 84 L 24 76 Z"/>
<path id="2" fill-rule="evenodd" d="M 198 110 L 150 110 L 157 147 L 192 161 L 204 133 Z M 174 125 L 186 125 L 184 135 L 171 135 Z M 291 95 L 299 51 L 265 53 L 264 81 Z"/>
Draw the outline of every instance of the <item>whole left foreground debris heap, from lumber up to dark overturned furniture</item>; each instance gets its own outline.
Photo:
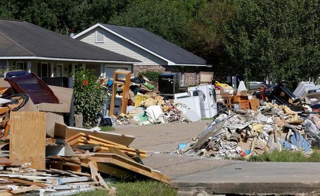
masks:
<path id="1" fill-rule="evenodd" d="M 49 86 L 28 72 L 0 83 L 5 87 L 0 90 L 0 195 L 74 195 L 97 188 L 115 195 L 100 173 L 170 182 L 143 165 L 147 151 L 129 147 L 134 136 L 67 126 L 72 89 Z"/>

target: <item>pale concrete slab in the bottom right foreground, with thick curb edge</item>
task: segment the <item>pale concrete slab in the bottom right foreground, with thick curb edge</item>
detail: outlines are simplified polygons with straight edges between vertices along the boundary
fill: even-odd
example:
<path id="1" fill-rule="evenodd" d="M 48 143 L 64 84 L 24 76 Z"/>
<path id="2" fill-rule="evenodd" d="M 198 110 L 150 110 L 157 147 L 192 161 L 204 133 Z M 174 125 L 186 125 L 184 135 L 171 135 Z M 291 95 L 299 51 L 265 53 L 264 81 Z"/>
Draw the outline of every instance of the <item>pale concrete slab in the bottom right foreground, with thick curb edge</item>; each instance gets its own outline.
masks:
<path id="1" fill-rule="evenodd" d="M 215 194 L 320 192 L 319 163 L 245 162 L 175 178 L 171 185 Z"/>

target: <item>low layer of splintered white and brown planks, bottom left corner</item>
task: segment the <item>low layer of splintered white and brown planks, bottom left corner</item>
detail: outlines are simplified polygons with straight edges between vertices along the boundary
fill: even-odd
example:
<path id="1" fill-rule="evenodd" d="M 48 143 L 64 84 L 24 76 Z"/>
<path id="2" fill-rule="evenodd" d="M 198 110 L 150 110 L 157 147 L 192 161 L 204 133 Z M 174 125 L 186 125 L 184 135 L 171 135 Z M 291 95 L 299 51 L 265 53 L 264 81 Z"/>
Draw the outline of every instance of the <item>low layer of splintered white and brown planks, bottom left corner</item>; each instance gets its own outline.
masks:
<path id="1" fill-rule="evenodd" d="M 35 170 L 30 164 L 0 158 L 0 196 L 30 194 L 33 196 L 65 196 L 95 190 L 100 183 L 91 174 Z"/>

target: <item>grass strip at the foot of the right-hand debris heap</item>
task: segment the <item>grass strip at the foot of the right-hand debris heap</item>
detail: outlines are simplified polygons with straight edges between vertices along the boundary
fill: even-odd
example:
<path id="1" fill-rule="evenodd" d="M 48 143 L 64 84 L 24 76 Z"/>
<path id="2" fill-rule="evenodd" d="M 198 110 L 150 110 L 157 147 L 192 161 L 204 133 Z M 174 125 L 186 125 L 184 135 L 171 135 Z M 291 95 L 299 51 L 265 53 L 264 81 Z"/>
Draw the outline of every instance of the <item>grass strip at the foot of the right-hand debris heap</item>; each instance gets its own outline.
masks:
<path id="1" fill-rule="evenodd" d="M 275 150 L 271 152 L 264 152 L 260 155 L 252 155 L 246 160 L 256 162 L 320 162 L 320 151 L 314 150 L 311 155 L 306 155 L 301 151 Z"/>

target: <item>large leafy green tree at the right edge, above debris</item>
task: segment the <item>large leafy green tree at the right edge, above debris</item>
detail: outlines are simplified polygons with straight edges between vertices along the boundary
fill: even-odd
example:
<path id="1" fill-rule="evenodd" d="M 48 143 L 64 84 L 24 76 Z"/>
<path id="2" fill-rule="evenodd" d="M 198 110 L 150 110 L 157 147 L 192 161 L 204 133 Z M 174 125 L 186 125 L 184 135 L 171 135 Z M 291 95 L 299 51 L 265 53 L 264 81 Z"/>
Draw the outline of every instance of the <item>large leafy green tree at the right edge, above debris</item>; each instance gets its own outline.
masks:
<path id="1" fill-rule="evenodd" d="M 235 73 L 296 82 L 320 72 L 319 0 L 236 0 L 224 26 Z"/>

